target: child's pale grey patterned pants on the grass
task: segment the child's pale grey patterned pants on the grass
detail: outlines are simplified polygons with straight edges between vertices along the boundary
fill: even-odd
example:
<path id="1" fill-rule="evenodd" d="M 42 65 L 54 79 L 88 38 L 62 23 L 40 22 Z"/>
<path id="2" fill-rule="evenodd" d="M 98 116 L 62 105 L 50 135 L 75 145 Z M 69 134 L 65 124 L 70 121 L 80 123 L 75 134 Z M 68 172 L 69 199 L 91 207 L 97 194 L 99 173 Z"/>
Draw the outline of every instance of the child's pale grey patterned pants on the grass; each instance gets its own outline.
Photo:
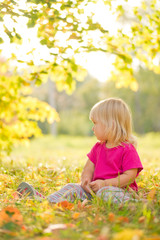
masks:
<path id="1" fill-rule="evenodd" d="M 102 198 L 104 201 L 111 199 L 114 203 L 126 202 L 128 200 L 136 200 L 124 189 L 118 187 L 107 186 L 99 189 L 96 196 Z M 92 199 L 92 195 L 87 193 L 81 185 L 77 183 L 69 183 L 61 188 L 59 191 L 48 196 L 51 203 L 58 203 L 64 200 L 73 202 L 75 199 L 85 200 Z"/>

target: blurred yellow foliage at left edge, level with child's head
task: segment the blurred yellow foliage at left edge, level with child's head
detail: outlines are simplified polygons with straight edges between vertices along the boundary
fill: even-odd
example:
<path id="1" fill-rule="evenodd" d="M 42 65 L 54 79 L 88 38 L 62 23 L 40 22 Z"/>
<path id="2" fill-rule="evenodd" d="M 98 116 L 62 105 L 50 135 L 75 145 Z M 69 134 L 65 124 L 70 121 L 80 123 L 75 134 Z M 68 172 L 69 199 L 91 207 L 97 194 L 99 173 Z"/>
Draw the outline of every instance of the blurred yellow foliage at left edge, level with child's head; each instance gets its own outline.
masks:
<path id="1" fill-rule="evenodd" d="M 50 123 L 58 120 L 58 114 L 47 103 L 28 95 L 31 91 L 30 84 L 1 59 L 0 157 L 10 152 L 13 144 L 39 135 L 37 120 Z"/>

